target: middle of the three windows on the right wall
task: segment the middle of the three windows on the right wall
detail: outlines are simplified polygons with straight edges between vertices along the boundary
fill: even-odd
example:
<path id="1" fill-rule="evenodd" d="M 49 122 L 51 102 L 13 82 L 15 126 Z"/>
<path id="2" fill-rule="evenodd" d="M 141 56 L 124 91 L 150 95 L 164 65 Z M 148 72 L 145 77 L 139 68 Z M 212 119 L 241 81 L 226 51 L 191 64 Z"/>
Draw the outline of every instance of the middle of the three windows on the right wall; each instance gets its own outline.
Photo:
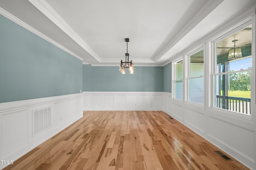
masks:
<path id="1" fill-rule="evenodd" d="M 189 56 L 188 101 L 204 104 L 204 50 Z"/>

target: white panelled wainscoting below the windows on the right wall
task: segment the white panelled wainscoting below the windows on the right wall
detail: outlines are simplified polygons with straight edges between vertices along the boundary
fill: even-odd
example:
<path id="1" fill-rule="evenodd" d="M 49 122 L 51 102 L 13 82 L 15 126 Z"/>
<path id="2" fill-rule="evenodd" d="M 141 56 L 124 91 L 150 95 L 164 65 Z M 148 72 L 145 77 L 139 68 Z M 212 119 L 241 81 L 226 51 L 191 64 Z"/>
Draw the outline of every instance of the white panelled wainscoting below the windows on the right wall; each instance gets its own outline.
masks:
<path id="1" fill-rule="evenodd" d="M 168 101 L 167 98 L 164 97 L 166 104 L 163 109 L 166 113 L 248 168 L 256 170 L 256 126 L 250 116 L 229 114 L 226 110 L 207 108 L 172 98 Z M 254 116 L 256 107 L 253 104 L 251 107 Z"/>

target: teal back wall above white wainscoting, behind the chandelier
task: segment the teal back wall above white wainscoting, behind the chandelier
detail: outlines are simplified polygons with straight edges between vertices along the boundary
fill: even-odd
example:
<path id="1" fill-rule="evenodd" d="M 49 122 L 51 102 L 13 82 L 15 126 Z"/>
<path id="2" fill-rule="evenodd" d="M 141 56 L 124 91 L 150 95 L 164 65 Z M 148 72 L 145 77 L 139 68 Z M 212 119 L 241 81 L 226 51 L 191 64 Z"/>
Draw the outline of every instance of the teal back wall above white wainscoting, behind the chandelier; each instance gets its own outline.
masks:
<path id="1" fill-rule="evenodd" d="M 134 66 L 134 74 L 118 66 L 83 65 L 85 92 L 163 92 L 162 66 Z"/>

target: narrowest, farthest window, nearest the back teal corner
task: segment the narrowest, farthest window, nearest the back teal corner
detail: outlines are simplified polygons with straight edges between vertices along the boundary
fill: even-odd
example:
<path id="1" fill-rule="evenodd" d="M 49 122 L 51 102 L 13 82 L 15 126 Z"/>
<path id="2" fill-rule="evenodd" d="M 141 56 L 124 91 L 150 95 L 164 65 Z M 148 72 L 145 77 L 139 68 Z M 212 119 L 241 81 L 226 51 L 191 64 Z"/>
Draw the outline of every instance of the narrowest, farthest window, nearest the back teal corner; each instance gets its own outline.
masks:
<path id="1" fill-rule="evenodd" d="M 183 62 L 178 61 L 174 64 L 175 75 L 174 75 L 174 98 L 183 99 Z"/>

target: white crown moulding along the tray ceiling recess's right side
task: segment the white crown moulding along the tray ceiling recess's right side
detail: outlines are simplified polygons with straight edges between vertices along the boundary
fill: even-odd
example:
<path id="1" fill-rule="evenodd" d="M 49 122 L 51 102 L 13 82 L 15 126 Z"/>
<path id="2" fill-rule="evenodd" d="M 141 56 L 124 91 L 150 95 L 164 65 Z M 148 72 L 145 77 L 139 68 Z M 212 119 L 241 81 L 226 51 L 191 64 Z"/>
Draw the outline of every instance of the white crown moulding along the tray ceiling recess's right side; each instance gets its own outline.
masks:
<path id="1" fill-rule="evenodd" d="M 172 40 L 163 48 L 163 50 L 155 57 L 157 62 L 166 53 L 178 43 L 189 31 L 191 31 L 200 21 L 202 21 L 212 10 L 220 5 L 224 0 L 208 0 L 206 4 L 180 29 L 180 31 L 172 38 Z M 171 57 L 171 56 L 168 56 Z"/>

